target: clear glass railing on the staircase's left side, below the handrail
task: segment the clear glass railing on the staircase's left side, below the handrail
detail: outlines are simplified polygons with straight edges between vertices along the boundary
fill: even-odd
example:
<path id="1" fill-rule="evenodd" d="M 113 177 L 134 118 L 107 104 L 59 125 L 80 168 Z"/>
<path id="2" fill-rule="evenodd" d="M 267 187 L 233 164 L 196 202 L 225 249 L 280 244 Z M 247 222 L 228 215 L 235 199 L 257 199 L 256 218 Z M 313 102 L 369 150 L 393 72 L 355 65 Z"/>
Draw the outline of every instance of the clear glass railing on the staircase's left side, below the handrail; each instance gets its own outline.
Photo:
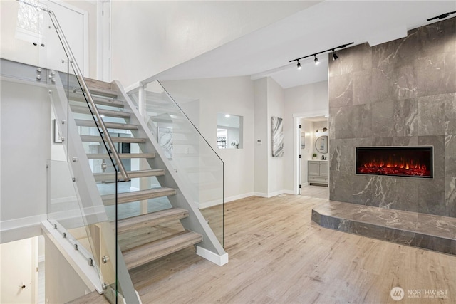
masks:
<path id="1" fill-rule="evenodd" d="M 30 54 L 26 63 L 40 67 L 36 68 L 36 82 L 32 85 L 48 89 L 52 106 L 51 117 L 55 122 L 51 159 L 47 164 L 49 225 L 45 226 L 52 227 L 51 232 L 56 233 L 56 242 L 71 244 L 75 255 L 83 256 L 86 266 L 90 265 L 98 277 L 93 281 L 92 274 L 85 273 L 84 278 L 91 277 L 93 286 L 111 303 L 139 303 L 118 246 L 115 224 L 113 226 L 106 215 L 95 182 L 90 182 L 93 174 L 87 165 L 88 160 L 79 135 L 83 126 L 78 125 L 78 120 L 73 117 L 69 108 L 69 97 L 73 98 L 73 94 L 80 92 L 76 103 L 81 107 L 80 110 L 86 113 L 84 115 L 88 114 L 90 117 L 87 121 L 96 126 L 90 130 L 90 136 L 98 137 L 98 145 L 110 151 L 106 162 L 109 162 L 115 175 L 120 175 L 119 179 L 113 179 L 110 187 L 105 189 L 106 195 L 113 196 L 114 206 L 118 199 L 118 180 L 128 180 L 125 167 L 115 151 L 115 143 L 109 136 L 105 136 L 108 128 L 103 124 L 101 114 L 95 107 L 83 73 L 78 68 L 53 11 L 36 1 L 18 1 L 17 9 L 18 24 L 19 19 L 33 24 L 28 24 L 26 29 L 21 28 L 23 35 L 16 35 L 19 38 L 16 38 L 14 43 L 18 46 L 24 44 L 24 37 L 35 39 L 30 45 L 36 47 L 27 48 Z M 33 36 L 34 34 L 36 35 Z M 11 33 L 11 36 L 14 37 L 14 33 Z M 25 65 L 20 66 L 27 69 Z M 19 69 L 15 73 L 20 72 Z M 21 77 L 19 75 L 17 78 Z M 61 236 L 63 240 L 57 236 Z M 59 248 L 65 247 L 66 245 Z M 79 269 L 84 268 L 75 265 L 74 261 L 71 264 Z M 62 285 L 64 283 L 61 282 Z"/>

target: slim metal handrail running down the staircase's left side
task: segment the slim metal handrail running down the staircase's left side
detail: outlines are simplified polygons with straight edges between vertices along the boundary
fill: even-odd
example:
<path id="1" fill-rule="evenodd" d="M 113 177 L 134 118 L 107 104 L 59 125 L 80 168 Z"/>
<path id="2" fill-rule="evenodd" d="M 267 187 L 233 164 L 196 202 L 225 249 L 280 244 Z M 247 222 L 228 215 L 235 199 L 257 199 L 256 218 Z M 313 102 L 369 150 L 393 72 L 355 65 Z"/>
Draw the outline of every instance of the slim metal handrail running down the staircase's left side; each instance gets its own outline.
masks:
<path id="1" fill-rule="evenodd" d="M 51 21 L 53 23 L 54 28 L 56 29 L 56 33 L 58 35 L 58 38 L 60 39 L 62 46 L 63 46 L 63 51 L 65 51 L 66 56 L 68 56 L 69 61 L 71 66 L 73 67 L 73 70 L 76 73 L 76 77 L 78 78 L 79 85 L 81 85 L 83 94 L 88 97 L 88 102 L 92 106 L 93 113 L 95 113 L 95 116 L 97 118 L 97 121 L 95 121 L 95 124 L 103 130 L 103 134 L 101 135 L 103 139 L 103 135 L 105 137 L 105 140 L 108 142 L 108 146 L 110 148 L 110 152 L 113 154 L 113 157 L 115 159 L 115 162 L 117 162 L 120 174 L 122 174 L 123 180 L 125 182 L 128 182 L 130 180 L 130 177 L 128 177 L 127 171 L 125 170 L 125 167 L 123 167 L 123 163 L 120 161 L 119 154 L 117 150 L 115 150 L 113 140 L 109 136 L 108 133 L 108 128 L 106 128 L 105 123 L 103 122 L 103 119 L 101 118 L 100 112 L 98 112 L 98 108 L 95 105 L 95 101 L 93 101 L 92 95 L 90 94 L 90 91 L 88 89 L 88 85 L 86 83 L 86 80 L 83 78 L 83 73 L 81 73 L 81 70 L 79 69 L 78 63 L 76 63 L 76 59 L 73 56 L 73 52 L 71 51 L 70 45 L 68 44 L 68 41 L 66 40 L 65 35 L 63 34 L 63 31 L 61 30 L 60 23 L 58 23 L 56 14 L 54 14 L 53 11 L 50 9 L 47 9 L 46 7 L 43 6 L 38 6 L 36 4 L 33 4 L 28 1 L 24 0 L 18 0 L 19 2 L 22 2 L 24 4 L 27 4 L 29 6 L 36 7 L 36 9 L 41 9 L 43 11 L 47 11 L 49 13 L 49 16 L 51 17 Z M 92 113 L 92 114 L 93 114 Z M 108 151 L 109 153 L 109 151 Z"/>

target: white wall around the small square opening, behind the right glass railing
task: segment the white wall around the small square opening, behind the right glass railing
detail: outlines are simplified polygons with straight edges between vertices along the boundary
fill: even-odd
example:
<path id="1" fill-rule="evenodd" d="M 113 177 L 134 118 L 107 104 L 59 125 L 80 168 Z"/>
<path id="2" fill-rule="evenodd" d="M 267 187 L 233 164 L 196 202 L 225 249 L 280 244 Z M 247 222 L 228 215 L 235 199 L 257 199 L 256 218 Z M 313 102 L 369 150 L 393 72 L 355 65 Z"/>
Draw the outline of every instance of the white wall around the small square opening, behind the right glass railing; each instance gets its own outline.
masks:
<path id="1" fill-rule="evenodd" d="M 248 77 L 163 81 L 171 96 L 199 100 L 199 131 L 225 166 L 225 201 L 250 196 L 254 180 L 254 90 Z M 179 100 L 179 98 L 177 98 Z M 217 112 L 244 117 L 242 149 L 217 150 Z M 197 115 L 191 115 L 197 117 Z"/>

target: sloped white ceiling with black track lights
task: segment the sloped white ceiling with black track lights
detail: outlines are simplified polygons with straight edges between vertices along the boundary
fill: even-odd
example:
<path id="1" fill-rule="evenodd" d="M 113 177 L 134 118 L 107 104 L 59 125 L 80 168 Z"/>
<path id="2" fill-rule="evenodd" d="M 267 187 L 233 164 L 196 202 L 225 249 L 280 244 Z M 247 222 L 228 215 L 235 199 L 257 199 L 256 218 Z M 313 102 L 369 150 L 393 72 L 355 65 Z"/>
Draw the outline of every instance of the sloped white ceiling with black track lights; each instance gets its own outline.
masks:
<path id="1" fill-rule="evenodd" d="M 316 83 L 328 78 L 326 54 L 318 56 L 318 66 L 314 58 L 301 61 L 301 70 L 289 61 L 345 43 L 373 46 L 401 38 L 409 29 L 435 22 L 426 19 L 449 11 L 456 11 L 456 1 L 323 1 L 165 70 L 157 78 L 269 76 L 283 88 Z"/>

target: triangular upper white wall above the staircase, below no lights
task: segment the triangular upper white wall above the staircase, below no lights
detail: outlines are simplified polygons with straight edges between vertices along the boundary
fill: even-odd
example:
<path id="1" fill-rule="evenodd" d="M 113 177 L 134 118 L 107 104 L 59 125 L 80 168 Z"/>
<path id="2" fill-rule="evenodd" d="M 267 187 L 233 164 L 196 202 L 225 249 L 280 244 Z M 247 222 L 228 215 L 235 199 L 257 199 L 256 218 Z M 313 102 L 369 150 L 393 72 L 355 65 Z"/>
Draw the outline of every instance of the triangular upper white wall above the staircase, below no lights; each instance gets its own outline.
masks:
<path id="1" fill-rule="evenodd" d="M 112 77 L 125 87 L 306 7 L 306 1 L 112 1 Z"/>

